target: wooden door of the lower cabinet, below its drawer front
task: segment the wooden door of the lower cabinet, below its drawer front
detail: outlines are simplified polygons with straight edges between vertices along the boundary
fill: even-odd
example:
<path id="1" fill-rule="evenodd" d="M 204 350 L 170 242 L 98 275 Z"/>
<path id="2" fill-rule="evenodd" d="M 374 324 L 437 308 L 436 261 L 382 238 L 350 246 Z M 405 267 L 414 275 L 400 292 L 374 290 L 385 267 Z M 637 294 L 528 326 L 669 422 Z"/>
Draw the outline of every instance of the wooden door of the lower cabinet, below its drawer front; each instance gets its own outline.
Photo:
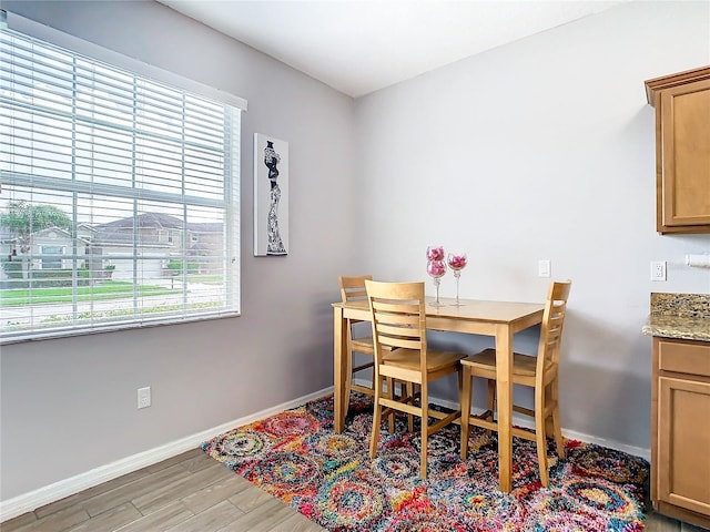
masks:
<path id="1" fill-rule="evenodd" d="M 710 515 L 710 382 L 659 378 L 658 497 Z"/>

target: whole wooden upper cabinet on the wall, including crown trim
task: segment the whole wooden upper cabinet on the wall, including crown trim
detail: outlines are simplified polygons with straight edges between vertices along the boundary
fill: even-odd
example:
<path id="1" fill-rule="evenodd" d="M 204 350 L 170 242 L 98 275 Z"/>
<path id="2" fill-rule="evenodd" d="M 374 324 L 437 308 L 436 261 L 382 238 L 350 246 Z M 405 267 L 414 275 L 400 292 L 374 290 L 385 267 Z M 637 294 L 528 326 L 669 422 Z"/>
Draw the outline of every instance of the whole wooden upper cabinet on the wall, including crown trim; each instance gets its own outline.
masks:
<path id="1" fill-rule="evenodd" d="M 659 233 L 710 233 L 710 66 L 646 81 Z"/>

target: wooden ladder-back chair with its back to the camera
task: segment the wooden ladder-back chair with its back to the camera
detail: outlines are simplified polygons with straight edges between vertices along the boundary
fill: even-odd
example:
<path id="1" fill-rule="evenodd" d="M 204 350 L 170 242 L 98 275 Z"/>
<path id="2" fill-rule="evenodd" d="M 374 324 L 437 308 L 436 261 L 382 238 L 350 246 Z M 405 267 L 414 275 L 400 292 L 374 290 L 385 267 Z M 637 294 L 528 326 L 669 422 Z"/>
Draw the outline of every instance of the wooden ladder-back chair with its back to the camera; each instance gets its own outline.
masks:
<path id="1" fill-rule="evenodd" d="M 365 280 L 375 345 L 375 411 L 369 457 L 377 454 L 382 416 L 399 411 L 422 420 L 422 466 L 426 479 L 428 437 L 458 420 L 460 410 L 450 413 L 429 408 L 429 382 L 450 374 L 458 375 L 462 387 L 463 352 L 429 349 L 426 341 L 426 300 L 424 283 L 381 283 Z M 406 382 L 406 393 L 395 397 L 384 379 Z M 435 418 L 429 424 L 429 417 Z M 390 426 L 392 427 L 392 426 Z M 390 429 L 392 430 L 392 429 Z M 412 430 L 412 428 L 410 428 Z"/>

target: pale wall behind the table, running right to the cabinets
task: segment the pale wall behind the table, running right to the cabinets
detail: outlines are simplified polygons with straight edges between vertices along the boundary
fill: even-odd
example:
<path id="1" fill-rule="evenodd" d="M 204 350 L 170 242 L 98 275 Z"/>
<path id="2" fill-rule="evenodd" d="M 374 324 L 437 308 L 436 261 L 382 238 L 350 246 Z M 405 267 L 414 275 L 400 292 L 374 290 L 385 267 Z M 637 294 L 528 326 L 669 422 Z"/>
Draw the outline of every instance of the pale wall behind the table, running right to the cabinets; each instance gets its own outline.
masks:
<path id="1" fill-rule="evenodd" d="M 359 99 L 366 269 L 424 279 L 425 249 L 442 244 L 468 253 L 463 296 L 540 301 L 537 262 L 550 259 L 574 282 L 562 426 L 648 449 L 650 293 L 710 291 L 710 270 L 683 264 L 710 235 L 655 231 L 643 81 L 709 63 L 710 3 L 629 2 Z M 667 283 L 649 280 L 650 260 L 669 262 Z M 450 274 L 442 293 L 455 294 Z"/>

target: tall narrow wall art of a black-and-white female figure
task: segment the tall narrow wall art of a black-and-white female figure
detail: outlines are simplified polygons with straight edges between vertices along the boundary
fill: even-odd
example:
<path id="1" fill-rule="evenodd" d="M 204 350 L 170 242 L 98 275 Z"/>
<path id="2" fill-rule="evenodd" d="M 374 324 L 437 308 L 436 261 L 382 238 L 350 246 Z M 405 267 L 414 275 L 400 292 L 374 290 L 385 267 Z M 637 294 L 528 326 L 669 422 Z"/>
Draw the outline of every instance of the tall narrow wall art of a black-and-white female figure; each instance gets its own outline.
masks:
<path id="1" fill-rule="evenodd" d="M 288 143 L 254 133 L 254 256 L 288 255 Z"/>

